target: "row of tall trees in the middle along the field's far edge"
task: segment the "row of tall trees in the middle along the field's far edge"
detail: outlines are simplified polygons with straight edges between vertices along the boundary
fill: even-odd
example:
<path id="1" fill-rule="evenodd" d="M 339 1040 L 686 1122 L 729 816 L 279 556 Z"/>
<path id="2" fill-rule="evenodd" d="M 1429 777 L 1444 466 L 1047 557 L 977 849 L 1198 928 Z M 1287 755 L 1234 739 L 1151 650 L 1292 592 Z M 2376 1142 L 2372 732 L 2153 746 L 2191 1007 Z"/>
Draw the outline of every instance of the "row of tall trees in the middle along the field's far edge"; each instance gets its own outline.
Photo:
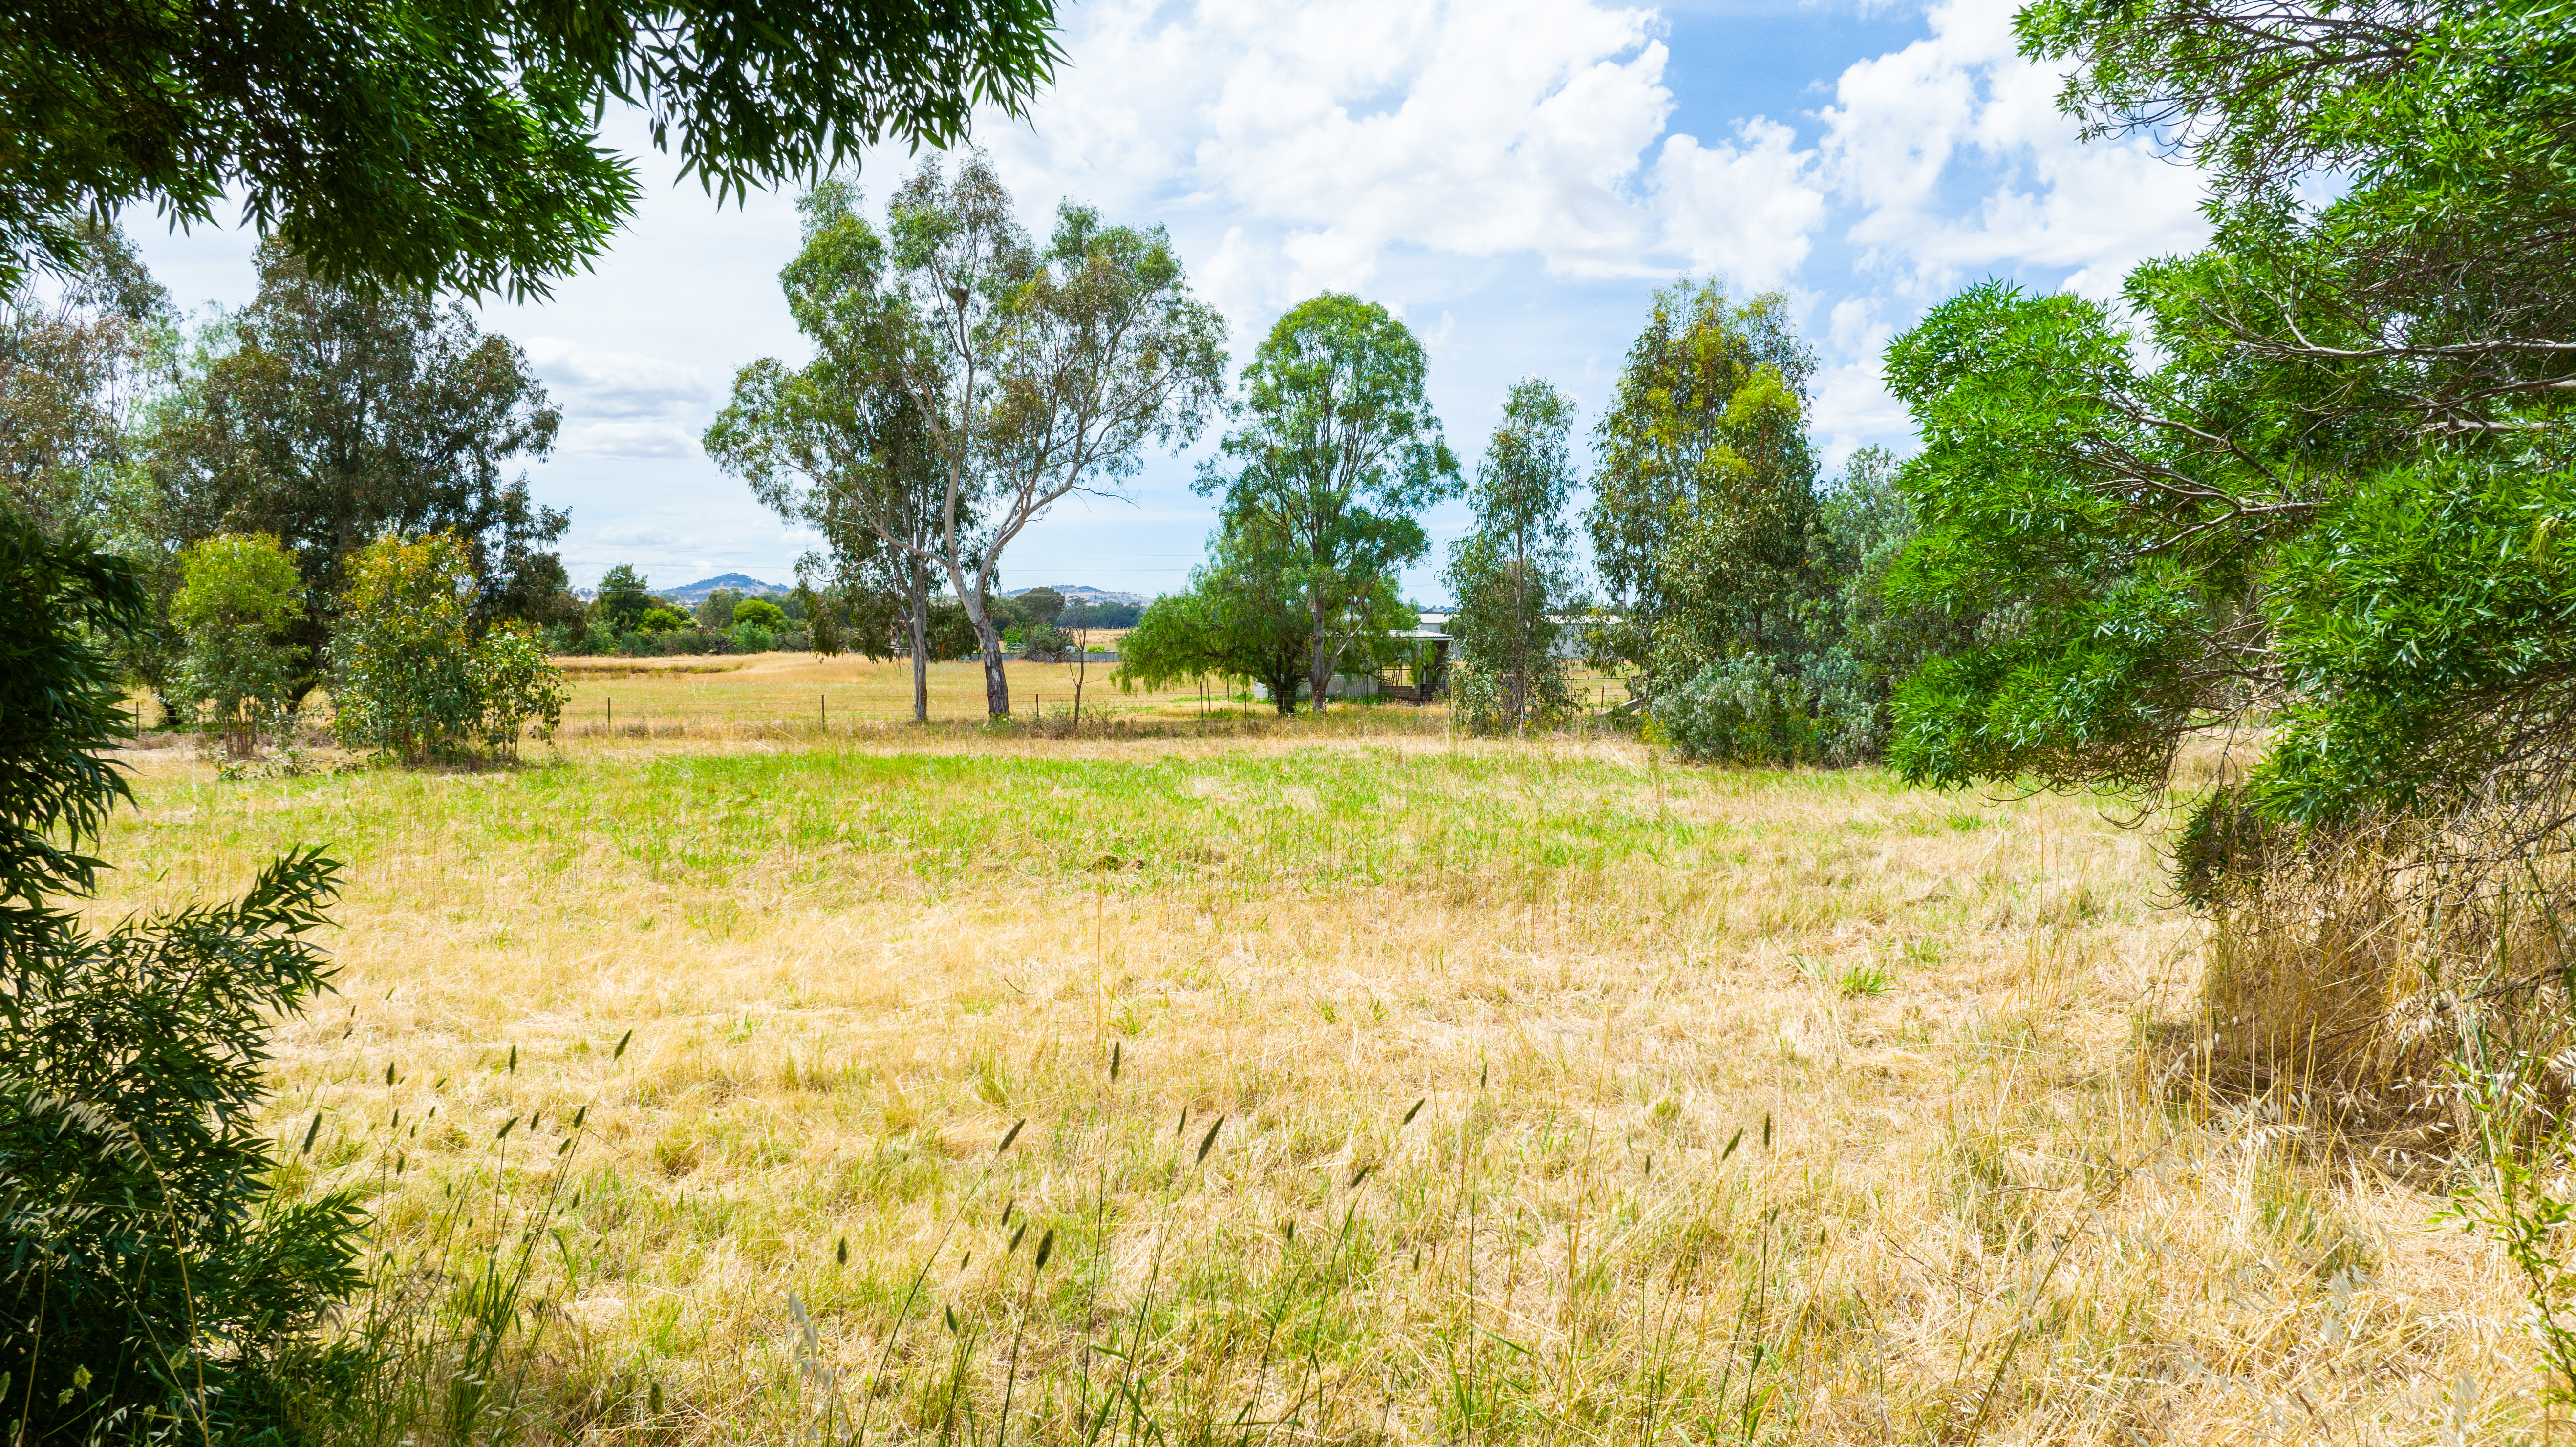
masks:
<path id="1" fill-rule="evenodd" d="M 1229 386 L 1224 330 L 1162 229 L 1064 203 L 1023 234 L 992 165 L 927 160 L 884 209 L 827 180 L 801 201 L 781 273 L 814 360 L 742 368 L 706 453 L 781 518 L 822 533 L 801 577 L 845 618 L 927 659 L 943 600 L 981 644 L 987 711 L 1007 716 L 1005 548 L 1054 502 L 1115 492 L 1146 448 L 1231 422 L 1195 489 L 1218 505 L 1208 561 L 1121 644 L 1121 685 L 1234 677 L 1285 713 L 1334 675 L 1394 662 L 1417 613 L 1422 512 L 1466 497 L 1476 530 L 1445 582 L 1458 700 L 1476 726 L 1556 726 L 1566 657 L 1620 669 L 1690 757 L 1862 762 L 1924 639 L 1878 579 L 1906 507 L 1883 453 L 1819 481 L 1814 355 L 1783 296 L 1677 283 L 1654 301 L 1595 440 L 1587 510 L 1605 597 L 1571 548 L 1574 404 L 1515 386 L 1476 479 L 1427 397 L 1427 355 L 1386 306 L 1324 294 L 1288 309 Z M 1909 651 L 1911 649 L 1911 651 Z"/>

